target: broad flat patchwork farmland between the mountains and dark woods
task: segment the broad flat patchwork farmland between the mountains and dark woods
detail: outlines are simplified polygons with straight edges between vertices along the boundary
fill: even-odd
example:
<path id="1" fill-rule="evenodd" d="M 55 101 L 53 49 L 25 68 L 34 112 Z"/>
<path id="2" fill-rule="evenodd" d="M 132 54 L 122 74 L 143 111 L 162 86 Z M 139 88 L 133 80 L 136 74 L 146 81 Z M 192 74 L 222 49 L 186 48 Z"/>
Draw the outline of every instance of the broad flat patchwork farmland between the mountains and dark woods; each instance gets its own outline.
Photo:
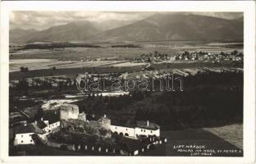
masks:
<path id="1" fill-rule="evenodd" d="M 130 62 L 141 54 L 158 51 L 167 54 L 178 52 L 232 52 L 235 49 L 243 52 L 243 48 L 226 48 L 223 45 L 234 43 L 209 43 L 199 41 L 139 42 L 141 48 L 112 48 L 121 43 L 97 43 L 100 48 L 63 48 L 25 49 L 10 56 L 10 80 L 22 77 L 46 75 L 77 75 L 87 72 L 133 72 L 140 71 L 147 63 Z M 124 43 L 123 43 L 124 44 Z M 19 72 L 21 66 L 28 67 L 29 72 Z M 153 64 L 153 69 L 192 69 L 203 66 L 229 66 L 229 63 L 215 64 L 210 62 L 167 61 Z M 53 70 L 53 67 L 57 70 Z M 96 70 L 95 70 L 96 68 Z"/>

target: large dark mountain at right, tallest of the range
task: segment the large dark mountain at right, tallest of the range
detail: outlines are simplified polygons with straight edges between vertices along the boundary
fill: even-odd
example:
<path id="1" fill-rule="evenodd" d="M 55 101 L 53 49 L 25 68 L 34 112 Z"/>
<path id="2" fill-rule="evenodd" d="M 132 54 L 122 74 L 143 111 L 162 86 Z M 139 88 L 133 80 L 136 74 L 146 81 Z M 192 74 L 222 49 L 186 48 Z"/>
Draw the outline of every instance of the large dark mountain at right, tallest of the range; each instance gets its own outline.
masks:
<path id="1" fill-rule="evenodd" d="M 242 39 L 243 21 L 199 15 L 156 14 L 131 25 L 107 30 L 94 39 L 99 37 L 116 41 Z"/>

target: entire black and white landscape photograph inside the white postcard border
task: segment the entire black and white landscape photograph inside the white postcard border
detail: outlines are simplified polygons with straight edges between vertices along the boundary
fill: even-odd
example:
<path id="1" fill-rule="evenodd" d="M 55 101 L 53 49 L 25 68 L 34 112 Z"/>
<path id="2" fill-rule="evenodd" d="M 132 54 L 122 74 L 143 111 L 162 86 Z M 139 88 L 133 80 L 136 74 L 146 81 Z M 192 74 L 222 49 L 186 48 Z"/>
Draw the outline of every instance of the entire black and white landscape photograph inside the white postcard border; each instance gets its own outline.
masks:
<path id="1" fill-rule="evenodd" d="M 8 156 L 246 156 L 244 11 L 8 22 Z"/>

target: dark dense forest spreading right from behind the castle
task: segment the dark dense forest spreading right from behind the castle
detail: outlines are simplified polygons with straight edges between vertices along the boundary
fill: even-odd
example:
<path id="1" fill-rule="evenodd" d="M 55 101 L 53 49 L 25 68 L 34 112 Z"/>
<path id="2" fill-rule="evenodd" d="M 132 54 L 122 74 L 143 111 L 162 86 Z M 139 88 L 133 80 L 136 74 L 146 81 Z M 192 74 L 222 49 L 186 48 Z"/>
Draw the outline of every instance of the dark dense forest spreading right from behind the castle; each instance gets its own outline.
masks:
<path id="1" fill-rule="evenodd" d="M 80 111 L 112 119 L 149 120 L 162 130 L 226 125 L 243 121 L 243 73 L 211 72 L 184 78 L 184 91 L 132 92 L 121 97 L 89 95 Z"/>

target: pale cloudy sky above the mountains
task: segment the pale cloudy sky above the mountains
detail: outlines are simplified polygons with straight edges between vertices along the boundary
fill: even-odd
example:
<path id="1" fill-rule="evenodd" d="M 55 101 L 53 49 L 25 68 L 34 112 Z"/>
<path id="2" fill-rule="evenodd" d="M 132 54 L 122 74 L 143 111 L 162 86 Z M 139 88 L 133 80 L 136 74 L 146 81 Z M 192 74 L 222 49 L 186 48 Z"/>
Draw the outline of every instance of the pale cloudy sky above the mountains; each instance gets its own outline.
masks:
<path id="1" fill-rule="evenodd" d="M 65 25 L 74 21 L 139 21 L 156 12 L 129 11 L 12 11 L 10 29 L 45 30 L 56 25 Z M 170 12 L 168 12 L 170 13 Z M 171 12 L 176 14 L 176 12 Z M 225 19 L 236 19 L 243 16 L 242 12 L 180 12 L 183 14 L 199 14 L 216 16 Z"/>

